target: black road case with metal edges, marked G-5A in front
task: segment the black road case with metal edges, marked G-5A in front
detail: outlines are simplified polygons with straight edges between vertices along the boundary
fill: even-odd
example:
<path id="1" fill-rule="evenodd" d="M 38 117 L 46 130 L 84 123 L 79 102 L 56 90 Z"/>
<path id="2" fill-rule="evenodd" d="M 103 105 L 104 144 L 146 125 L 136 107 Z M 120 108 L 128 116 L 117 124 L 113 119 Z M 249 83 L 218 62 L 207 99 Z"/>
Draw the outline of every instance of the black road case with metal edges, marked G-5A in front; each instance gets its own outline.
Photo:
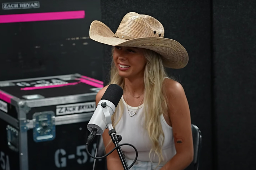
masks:
<path id="1" fill-rule="evenodd" d="M 78 73 L 0 81 L 0 169 L 93 169 L 85 140 L 102 87 L 102 81 Z M 96 145 L 94 139 L 92 155 Z"/>

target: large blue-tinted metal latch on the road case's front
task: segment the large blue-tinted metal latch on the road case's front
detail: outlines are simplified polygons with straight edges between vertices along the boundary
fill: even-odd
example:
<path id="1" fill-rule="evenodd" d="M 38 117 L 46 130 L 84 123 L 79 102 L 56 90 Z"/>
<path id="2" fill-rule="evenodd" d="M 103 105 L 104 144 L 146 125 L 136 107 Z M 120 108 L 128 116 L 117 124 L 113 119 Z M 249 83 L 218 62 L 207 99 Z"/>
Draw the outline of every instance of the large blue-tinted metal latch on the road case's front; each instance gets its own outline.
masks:
<path id="1" fill-rule="evenodd" d="M 33 137 L 35 142 L 45 142 L 55 138 L 55 116 L 53 111 L 33 114 Z"/>

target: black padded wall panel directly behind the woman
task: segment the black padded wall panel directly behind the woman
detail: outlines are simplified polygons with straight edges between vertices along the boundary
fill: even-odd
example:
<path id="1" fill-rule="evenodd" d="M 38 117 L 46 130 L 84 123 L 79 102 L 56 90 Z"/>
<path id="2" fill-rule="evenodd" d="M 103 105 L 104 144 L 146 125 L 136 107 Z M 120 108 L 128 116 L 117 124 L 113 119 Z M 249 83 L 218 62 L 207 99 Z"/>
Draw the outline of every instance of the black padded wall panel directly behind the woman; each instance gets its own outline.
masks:
<path id="1" fill-rule="evenodd" d="M 212 169 L 211 125 L 211 27 L 210 1 L 129 0 L 101 1 L 102 22 L 115 32 L 128 12 L 148 14 L 165 28 L 164 37 L 177 40 L 189 54 L 189 64 L 180 70 L 167 69 L 184 86 L 191 121 L 203 134 L 200 169 Z M 105 84 L 110 69 L 111 47 L 105 48 Z M 104 77 L 103 76 L 103 77 Z M 188 169 L 190 169 L 189 167 Z"/>

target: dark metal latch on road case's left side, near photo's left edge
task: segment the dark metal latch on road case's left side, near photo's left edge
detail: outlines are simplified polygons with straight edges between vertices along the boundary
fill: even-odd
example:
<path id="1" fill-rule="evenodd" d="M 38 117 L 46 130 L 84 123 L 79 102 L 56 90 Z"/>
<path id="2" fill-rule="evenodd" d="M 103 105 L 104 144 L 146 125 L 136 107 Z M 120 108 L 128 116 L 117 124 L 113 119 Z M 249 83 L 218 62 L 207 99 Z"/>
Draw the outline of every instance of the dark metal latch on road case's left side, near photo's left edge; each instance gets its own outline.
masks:
<path id="1" fill-rule="evenodd" d="M 18 152 L 19 150 L 19 132 L 17 129 L 13 128 L 10 125 L 7 125 L 6 127 L 6 131 L 7 131 L 7 143 L 8 143 L 8 147 L 10 149 L 12 149 L 15 152 Z"/>

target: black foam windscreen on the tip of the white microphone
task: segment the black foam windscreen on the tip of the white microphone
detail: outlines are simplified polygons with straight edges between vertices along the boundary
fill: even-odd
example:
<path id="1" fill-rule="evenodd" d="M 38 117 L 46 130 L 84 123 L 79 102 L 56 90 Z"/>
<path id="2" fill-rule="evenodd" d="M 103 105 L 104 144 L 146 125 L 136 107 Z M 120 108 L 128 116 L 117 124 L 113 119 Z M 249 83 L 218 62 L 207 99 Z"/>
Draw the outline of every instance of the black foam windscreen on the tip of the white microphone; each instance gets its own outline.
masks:
<path id="1" fill-rule="evenodd" d="M 124 91 L 119 85 L 110 84 L 107 87 L 107 90 L 105 91 L 105 93 L 103 94 L 101 100 L 109 100 L 115 105 L 115 107 L 117 107 L 123 93 Z"/>

